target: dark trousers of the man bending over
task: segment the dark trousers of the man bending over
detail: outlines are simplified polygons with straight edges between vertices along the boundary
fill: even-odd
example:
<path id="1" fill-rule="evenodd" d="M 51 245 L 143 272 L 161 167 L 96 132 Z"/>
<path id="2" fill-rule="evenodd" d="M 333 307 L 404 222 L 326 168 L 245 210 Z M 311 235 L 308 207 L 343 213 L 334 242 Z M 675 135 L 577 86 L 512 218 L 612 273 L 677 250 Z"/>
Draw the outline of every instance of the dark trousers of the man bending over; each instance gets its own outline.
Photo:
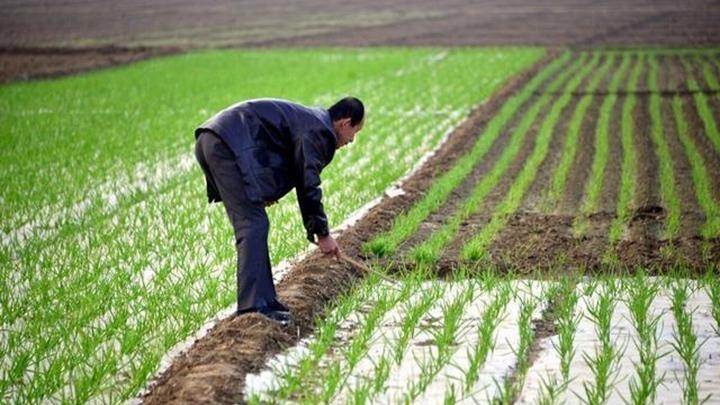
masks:
<path id="1" fill-rule="evenodd" d="M 195 143 L 195 157 L 205 173 L 208 189 L 222 198 L 235 231 L 237 250 L 237 310 L 285 309 L 276 300 L 268 253 L 265 207 L 248 201 L 235 156 L 214 133 L 203 132 Z"/>

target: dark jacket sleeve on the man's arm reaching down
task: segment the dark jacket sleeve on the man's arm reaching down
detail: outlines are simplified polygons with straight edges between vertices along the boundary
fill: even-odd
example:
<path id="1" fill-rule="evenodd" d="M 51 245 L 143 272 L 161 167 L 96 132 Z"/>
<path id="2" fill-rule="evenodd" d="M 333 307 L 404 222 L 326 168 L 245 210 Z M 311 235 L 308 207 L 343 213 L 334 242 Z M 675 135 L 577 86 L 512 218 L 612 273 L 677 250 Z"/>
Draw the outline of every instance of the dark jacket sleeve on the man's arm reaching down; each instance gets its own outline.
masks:
<path id="1" fill-rule="evenodd" d="M 330 232 L 320 188 L 326 147 L 322 135 L 316 132 L 302 134 L 295 140 L 295 191 L 310 242 L 315 241 L 315 235 L 326 236 Z"/>

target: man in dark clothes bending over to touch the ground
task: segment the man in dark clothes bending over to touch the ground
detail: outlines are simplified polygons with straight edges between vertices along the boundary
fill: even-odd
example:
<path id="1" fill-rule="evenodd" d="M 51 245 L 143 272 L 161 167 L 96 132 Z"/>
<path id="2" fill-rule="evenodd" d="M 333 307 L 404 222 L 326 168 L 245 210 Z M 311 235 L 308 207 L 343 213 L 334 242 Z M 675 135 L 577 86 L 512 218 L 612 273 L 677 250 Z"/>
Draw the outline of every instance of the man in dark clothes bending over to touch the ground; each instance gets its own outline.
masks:
<path id="1" fill-rule="evenodd" d="M 195 130 L 195 156 L 205 173 L 208 202 L 222 201 L 235 231 L 237 313 L 259 312 L 287 325 L 270 269 L 265 207 L 295 188 L 307 238 L 339 255 L 322 204 L 320 172 L 335 150 L 364 124 L 360 100 L 346 97 L 328 110 L 280 99 L 234 104 Z"/>

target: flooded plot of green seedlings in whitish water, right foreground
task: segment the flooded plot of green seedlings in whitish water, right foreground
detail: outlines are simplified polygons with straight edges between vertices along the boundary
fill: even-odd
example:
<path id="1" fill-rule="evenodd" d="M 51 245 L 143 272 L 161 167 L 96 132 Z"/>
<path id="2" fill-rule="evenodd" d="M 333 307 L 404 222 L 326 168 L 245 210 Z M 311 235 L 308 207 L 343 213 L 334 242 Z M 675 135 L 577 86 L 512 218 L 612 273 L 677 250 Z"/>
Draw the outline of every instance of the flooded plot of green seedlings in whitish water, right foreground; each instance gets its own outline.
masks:
<path id="1" fill-rule="evenodd" d="M 720 395 L 713 273 L 543 282 L 468 274 L 427 281 L 418 268 L 394 285 L 366 280 L 339 300 L 333 314 L 342 317 L 318 321 L 304 350 L 250 375 L 246 399 L 599 404 Z M 553 315 L 543 315 L 550 302 Z M 542 317 L 555 335 L 536 337 Z"/>

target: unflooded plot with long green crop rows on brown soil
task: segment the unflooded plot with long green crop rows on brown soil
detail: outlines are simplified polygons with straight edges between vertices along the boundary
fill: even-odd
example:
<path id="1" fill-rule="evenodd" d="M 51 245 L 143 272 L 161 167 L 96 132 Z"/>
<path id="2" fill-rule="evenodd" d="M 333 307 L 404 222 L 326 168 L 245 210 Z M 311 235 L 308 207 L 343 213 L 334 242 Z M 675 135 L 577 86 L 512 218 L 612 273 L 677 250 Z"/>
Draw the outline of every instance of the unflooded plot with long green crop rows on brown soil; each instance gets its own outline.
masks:
<path id="1" fill-rule="evenodd" d="M 716 69 L 713 52 L 558 57 L 366 253 L 441 270 L 717 263 Z"/>

